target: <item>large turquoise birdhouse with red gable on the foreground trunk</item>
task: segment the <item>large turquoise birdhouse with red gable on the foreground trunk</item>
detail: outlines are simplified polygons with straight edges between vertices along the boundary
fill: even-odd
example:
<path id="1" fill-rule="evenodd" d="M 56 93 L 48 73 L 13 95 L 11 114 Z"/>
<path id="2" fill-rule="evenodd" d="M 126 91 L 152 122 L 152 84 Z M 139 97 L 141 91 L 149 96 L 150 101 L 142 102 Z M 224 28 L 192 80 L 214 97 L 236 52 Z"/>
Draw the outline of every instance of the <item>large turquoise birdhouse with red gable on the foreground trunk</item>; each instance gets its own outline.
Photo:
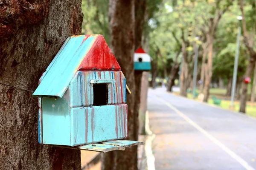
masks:
<path id="1" fill-rule="evenodd" d="M 39 80 L 38 141 L 107 152 L 143 142 L 128 137 L 130 90 L 102 35 L 68 37 Z"/>

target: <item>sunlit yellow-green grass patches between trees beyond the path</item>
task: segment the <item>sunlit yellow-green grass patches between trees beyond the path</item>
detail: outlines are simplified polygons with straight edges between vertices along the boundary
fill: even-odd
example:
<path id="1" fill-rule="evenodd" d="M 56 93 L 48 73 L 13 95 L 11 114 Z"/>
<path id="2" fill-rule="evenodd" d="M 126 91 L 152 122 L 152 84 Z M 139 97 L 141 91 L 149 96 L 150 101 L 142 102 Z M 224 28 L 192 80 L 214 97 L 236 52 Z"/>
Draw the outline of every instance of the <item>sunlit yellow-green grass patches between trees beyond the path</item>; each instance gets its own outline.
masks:
<path id="1" fill-rule="evenodd" d="M 218 99 L 222 99 L 221 96 L 223 96 L 224 98 L 227 99 L 227 97 L 224 96 L 225 94 L 226 94 L 226 89 L 219 89 L 219 88 L 212 88 L 212 89 L 210 89 L 210 96 L 209 96 L 209 99 L 208 99 L 208 103 L 210 105 L 213 105 L 213 101 L 212 101 L 212 98 L 211 98 L 212 95 L 215 95 Z M 188 93 L 187 94 L 187 98 L 192 99 L 193 98 L 192 94 Z M 198 99 L 196 99 L 196 100 L 198 100 Z M 240 105 L 240 101 L 235 101 L 234 102 L 234 106 L 235 106 L 235 110 L 234 111 L 237 111 L 237 112 L 239 111 L 239 105 Z M 230 98 L 228 100 L 222 99 L 221 105 L 219 107 L 221 107 L 223 109 L 228 109 L 229 110 Z M 253 105 L 252 103 L 247 102 L 246 114 L 250 115 L 250 116 L 256 117 L 256 104 Z"/>

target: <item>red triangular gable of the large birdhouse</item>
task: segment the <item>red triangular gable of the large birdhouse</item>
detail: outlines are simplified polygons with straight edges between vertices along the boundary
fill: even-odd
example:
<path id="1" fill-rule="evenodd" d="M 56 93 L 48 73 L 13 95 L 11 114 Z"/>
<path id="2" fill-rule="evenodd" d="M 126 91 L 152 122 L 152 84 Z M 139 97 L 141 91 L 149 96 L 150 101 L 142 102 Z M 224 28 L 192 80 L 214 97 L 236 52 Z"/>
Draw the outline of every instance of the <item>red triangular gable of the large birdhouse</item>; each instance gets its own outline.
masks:
<path id="1" fill-rule="evenodd" d="M 104 37 L 98 35 L 79 65 L 79 70 L 121 70 L 121 67 L 108 47 Z"/>

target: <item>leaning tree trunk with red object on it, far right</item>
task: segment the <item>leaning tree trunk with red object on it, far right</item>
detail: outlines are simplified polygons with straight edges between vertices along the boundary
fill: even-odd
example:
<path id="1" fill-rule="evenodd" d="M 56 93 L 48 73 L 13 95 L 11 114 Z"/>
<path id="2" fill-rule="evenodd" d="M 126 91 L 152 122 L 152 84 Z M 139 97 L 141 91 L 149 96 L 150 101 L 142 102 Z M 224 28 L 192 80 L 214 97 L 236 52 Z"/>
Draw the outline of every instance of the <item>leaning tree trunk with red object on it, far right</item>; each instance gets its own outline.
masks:
<path id="1" fill-rule="evenodd" d="M 253 73 L 254 66 L 255 66 L 255 60 L 251 58 L 249 64 L 247 65 L 244 78 L 251 77 L 251 75 Z M 246 108 L 246 101 L 247 101 L 247 89 L 248 89 L 248 84 L 244 83 L 244 81 L 243 81 L 242 93 L 241 93 L 241 99 L 240 99 L 240 109 L 239 109 L 239 111 L 241 113 L 245 113 L 245 111 L 246 111 L 245 108 Z"/>

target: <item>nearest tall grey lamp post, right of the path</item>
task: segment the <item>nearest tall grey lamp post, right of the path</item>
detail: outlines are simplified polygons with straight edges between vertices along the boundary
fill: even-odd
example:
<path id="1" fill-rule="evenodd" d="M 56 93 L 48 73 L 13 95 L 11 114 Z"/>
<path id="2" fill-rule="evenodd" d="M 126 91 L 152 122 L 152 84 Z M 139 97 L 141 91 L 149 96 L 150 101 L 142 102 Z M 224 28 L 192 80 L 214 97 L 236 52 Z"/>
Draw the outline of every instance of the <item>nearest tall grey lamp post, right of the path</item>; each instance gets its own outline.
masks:
<path id="1" fill-rule="evenodd" d="M 243 17 L 238 16 L 237 19 L 241 21 Z M 232 90 L 231 90 L 231 104 L 230 108 L 234 109 L 234 98 L 236 94 L 236 77 L 237 77 L 237 68 L 238 68 L 238 59 L 239 59 L 239 48 L 240 48 L 240 36 L 241 36 L 241 27 L 240 23 L 238 26 L 238 34 L 236 39 L 236 57 L 235 57 L 235 64 L 234 64 L 234 71 L 233 71 L 233 80 L 232 80 Z"/>

